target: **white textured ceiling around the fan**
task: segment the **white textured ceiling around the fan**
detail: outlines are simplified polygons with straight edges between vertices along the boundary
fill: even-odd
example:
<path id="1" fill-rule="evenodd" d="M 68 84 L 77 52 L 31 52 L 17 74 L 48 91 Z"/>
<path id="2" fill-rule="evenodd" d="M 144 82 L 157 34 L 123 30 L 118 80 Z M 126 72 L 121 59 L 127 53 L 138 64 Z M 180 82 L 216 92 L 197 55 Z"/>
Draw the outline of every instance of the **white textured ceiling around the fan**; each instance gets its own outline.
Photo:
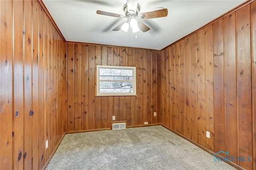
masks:
<path id="1" fill-rule="evenodd" d="M 126 18 L 96 14 L 96 10 L 124 15 L 126 0 L 43 0 L 67 41 L 161 50 L 204 26 L 245 0 L 138 0 L 140 13 L 168 9 L 168 16 L 142 20 L 148 32 L 112 31 Z M 140 14 L 139 13 L 139 14 Z"/>

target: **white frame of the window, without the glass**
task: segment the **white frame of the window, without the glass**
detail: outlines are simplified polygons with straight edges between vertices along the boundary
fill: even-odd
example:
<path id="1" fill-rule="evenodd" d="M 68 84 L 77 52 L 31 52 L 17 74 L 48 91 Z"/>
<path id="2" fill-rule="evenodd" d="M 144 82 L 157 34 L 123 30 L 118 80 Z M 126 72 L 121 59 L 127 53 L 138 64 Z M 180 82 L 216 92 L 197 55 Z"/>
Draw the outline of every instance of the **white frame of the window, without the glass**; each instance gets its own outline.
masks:
<path id="1" fill-rule="evenodd" d="M 132 93 L 100 93 L 100 68 L 112 68 L 112 69 L 122 69 L 122 70 L 132 70 L 132 80 L 130 80 L 133 84 Z M 97 81 L 96 81 L 96 96 L 137 96 L 136 94 L 136 67 L 132 66 L 103 66 L 97 65 Z M 106 80 L 104 80 L 106 81 Z M 113 81 L 113 80 L 111 80 Z"/>

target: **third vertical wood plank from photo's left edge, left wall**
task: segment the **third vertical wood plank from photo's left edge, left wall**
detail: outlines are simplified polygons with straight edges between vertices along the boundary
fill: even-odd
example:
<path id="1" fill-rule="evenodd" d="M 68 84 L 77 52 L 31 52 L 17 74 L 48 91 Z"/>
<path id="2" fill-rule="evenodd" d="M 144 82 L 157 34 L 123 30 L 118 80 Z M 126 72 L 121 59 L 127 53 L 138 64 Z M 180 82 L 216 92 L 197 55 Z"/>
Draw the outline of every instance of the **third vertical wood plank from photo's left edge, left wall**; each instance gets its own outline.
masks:
<path id="1" fill-rule="evenodd" d="M 32 2 L 24 1 L 24 169 L 32 168 Z"/>

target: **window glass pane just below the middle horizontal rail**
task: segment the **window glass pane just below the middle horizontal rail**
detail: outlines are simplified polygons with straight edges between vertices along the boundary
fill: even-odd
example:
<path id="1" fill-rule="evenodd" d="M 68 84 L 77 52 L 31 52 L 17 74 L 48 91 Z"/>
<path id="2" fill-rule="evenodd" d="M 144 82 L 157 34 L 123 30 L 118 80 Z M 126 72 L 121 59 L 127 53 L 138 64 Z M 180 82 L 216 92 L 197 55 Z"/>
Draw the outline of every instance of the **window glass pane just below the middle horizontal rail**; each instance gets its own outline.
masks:
<path id="1" fill-rule="evenodd" d="M 100 89 L 129 88 L 132 90 L 133 82 L 100 82 Z"/>

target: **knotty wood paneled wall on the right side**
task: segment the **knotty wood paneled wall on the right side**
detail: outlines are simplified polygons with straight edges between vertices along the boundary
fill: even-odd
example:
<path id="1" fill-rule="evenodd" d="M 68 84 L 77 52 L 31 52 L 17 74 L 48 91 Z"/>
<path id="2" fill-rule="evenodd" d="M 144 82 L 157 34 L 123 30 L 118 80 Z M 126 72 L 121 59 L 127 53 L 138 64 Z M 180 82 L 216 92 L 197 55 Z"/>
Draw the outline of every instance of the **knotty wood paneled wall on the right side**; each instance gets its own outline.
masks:
<path id="1" fill-rule="evenodd" d="M 214 152 L 250 156 L 234 163 L 256 169 L 256 2 L 162 50 L 157 62 L 162 124 Z"/>

